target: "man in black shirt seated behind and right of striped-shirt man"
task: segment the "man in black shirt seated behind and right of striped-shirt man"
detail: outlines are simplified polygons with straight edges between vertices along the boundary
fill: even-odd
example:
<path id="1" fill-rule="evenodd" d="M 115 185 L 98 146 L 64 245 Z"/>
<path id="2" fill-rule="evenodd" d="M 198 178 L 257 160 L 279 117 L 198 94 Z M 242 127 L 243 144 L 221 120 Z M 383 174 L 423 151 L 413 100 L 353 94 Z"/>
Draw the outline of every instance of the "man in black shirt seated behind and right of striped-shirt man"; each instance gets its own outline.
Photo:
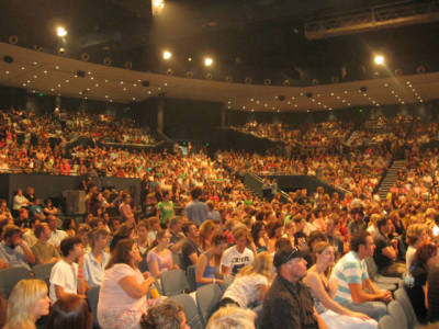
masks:
<path id="1" fill-rule="evenodd" d="M 391 240 L 389 234 L 392 229 L 392 220 L 387 218 L 380 219 L 376 223 L 378 232 L 373 236 L 376 246 L 373 259 L 381 274 L 387 276 L 403 276 L 405 264 L 397 262 L 397 240 Z"/>

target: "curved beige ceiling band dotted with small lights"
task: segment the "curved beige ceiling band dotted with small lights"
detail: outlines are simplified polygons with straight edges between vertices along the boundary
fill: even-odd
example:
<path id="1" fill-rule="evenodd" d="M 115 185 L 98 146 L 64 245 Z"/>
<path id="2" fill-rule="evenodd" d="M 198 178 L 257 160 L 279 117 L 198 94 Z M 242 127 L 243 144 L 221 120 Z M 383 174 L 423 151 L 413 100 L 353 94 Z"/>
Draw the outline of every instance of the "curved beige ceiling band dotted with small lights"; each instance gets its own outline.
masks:
<path id="1" fill-rule="evenodd" d="M 330 83 L 313 87 L 257 86 L 169 77 L 108 67 L 0 43 L 0 84 L 30 93 L 140 102 L 168 97 L 222 102 L 237 111 L 330 111 L 423 103 L 437 99 L 439 73 Z M 83 76 L 83 77 L 82 77 Z"/>

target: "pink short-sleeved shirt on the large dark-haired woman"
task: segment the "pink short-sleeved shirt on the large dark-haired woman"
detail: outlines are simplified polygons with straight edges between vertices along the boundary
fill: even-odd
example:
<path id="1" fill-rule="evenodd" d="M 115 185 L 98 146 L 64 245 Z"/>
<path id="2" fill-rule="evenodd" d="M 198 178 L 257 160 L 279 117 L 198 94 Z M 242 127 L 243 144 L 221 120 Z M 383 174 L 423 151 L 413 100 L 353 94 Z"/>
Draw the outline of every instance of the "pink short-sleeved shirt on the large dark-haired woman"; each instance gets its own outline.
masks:
<path id="1" fill-rule="evenodd" d="M 125 276 L 134 276 L 138 284 L 144 281 L 140 271 L 134 270 L 127 264 L 114 264 L 109 270 L 105 270 L 99 292 L 98 314 L 100 311 L 108 311 L 109 309 L 116 311 L 146 311 L 146 297 L 132 298 L 119 284 L 119 281 Z"/>

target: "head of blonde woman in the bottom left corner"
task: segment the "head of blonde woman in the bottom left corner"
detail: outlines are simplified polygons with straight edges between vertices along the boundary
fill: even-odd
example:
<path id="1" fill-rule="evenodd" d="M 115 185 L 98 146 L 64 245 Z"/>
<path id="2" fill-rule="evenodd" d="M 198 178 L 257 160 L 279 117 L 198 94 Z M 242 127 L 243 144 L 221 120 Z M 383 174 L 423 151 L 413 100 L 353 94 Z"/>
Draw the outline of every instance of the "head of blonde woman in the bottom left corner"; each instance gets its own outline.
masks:
<path id="1" fill-rule="evenodd" d="M 8 299 L 7 325 L 3 329 L 35 329 L 35 321 L 48 315 L 50 299 L 42 280 L 22 280 Z"/>

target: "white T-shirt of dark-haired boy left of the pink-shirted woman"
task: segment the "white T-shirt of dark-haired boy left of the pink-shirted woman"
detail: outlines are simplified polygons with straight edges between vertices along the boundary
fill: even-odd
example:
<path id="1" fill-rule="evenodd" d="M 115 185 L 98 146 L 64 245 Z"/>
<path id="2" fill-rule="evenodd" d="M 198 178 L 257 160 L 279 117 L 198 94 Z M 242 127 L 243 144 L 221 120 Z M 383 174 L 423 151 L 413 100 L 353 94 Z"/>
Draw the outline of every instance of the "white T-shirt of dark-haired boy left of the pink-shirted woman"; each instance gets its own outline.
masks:
<path id="1" fill-rule="evenodd" d="M 50 287 L 48 293 L 52 303 L 55 303 L 57 299 L 55 285 L 63 287 L 65 293 L 78 294 L 78 264 L 69 264 L 61 259 L 52 268 Z"/>

